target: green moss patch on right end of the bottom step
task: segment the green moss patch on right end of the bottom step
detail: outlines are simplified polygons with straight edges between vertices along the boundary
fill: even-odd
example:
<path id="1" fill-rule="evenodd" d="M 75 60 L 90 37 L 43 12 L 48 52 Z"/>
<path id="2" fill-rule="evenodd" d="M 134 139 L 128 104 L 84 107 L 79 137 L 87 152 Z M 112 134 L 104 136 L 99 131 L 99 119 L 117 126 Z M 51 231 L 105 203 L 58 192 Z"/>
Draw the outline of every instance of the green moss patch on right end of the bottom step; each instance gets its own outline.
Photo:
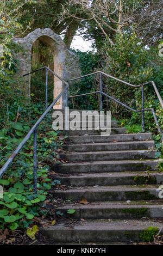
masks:
<path id="1" fill-rule="evenodd" d="M 140 232 L 139 237 L 143 242 L 153 242 L 154 236 L 158 234 L 158 231 L 159 228 L 157 227 L 148 227 Z"/>

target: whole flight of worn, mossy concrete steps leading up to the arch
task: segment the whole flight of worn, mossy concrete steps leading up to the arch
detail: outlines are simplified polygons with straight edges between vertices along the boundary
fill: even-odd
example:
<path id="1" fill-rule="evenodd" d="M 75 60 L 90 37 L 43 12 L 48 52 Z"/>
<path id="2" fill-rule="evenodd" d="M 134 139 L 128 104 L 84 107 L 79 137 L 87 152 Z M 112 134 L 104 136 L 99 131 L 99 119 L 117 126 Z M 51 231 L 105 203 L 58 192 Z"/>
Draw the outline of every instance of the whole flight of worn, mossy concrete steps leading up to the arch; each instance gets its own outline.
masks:
<path id="1" fill-rule="evenodd" d="M 54 243 L 148 241 L 163 225 L 158 197 L 163 177 L 151 133 L 124 134 L 117 121 L 111 122 L 110 136 L 99 132 L 68 132 L 66 153 L 60 154 L 68 162 L 55 166 L 53 177 L 67 190 L 52 194 L 66 202 L 57 211 L 74 221 L 43 229 Z"/>

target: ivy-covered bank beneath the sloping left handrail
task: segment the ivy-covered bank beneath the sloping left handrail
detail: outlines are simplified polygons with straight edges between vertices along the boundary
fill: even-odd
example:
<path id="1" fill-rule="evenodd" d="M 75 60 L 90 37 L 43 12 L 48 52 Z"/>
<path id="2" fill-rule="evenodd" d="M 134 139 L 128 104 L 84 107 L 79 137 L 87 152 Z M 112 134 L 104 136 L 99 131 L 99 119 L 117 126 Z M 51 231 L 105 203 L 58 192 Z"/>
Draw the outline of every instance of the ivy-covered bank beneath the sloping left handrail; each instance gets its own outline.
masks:
<path id="1" fill-rule="evenodd" d="M 28 105 L 26 106 L 28 108 Z M 8 121 L 5 128 L 0 130 L 0 165 L 3 166 L 7 157 L 26 136 L 30 127 L 35 123 L 39 114 L 44 111 L 40 104 L 31 106 L 32 119 L 28 119 L 26 108 L 15 123 Z M 42 111 L 42 112 L 41 112 Z M 16 118 L 12 110 L 10 115 Z M 27 121 L 23 121 L 27 118 Z M 48 124 L 48 125 L 47 125 Z M 17 132 L 21 132 L 17 133 Z M 43 202 L 46 200 L 48 190 L 59 180 L 52 181 L 48 176 L 48 163 L 58 160 L 56 150 L 61 147 L 64 136 L 59 131 L 52 130 L 52 118 L 48 115 L 38 127 L 37 135 L 37 195 L 33 187 L 33 136 L 24 145 L 15 157 L 8 170 L 0 179 L 3 186 L 3 198 L 0 200 L 0 228 L 27 228 L 35 216 L 47 215 L 48 210 Z"/>

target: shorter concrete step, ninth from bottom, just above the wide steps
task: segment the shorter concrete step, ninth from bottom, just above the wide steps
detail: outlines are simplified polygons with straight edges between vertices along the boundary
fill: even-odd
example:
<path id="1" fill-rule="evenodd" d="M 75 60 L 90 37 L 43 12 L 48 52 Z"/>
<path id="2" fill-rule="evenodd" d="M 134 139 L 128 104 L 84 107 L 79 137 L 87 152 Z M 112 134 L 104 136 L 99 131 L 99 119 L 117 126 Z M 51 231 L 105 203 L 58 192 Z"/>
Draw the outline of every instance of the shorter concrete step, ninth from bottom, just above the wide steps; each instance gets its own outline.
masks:
<path id="1" fill-rule="evenodd" d="M 80 130 L 80 131 L 78 131 L 78 130 L 74 130 L 74 131 L 72 131 L 72 130 L 69 130 L 68 131 L 68 135 L 70 135 L 70 136 L 74 136 L 74 135 L 80 135 L 80 136 L 82 136 L 82 135 L 98 135 L 98 136 L 101 136 L 101 132 L 104 132 L 104 131 L 102 131 L 102 130 L 95 130 L 95 129 L 92 129 L 92 130 Z M 112 134 L 123 134 L 124 132 L 126 132 L 126 129 L 124 128 L 124 127 L 112 127 L 111 128 L 111 135 Z M 110 135 L 109 136 L 101 136 L 101 137 L 104 137 L 104 138 L 107 138 L 107 137 L 110 137 Z"/>

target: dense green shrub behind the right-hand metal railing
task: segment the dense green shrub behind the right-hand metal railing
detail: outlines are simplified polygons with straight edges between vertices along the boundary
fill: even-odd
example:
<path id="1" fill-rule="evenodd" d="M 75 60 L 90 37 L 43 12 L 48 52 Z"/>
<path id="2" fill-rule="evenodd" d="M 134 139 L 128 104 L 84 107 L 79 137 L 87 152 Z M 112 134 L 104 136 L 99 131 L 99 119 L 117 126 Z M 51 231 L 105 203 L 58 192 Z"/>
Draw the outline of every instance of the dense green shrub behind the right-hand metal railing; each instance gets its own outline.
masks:
<path id="1" fill-rule="evenodd" d="M 104 51 L 105 72 L 135 85 L 153 80 L 160 94 L 163 95 L 161 60 L 155 48 L 151 47 L 147 49 L 143 47 L 133 33 L 128 35 L 124 34 L 123 36 L 118 35 L 115 44 L 111 47 L 105 43 Z M 106 93 L 126 103 L 126 105 L 130 107 L 141 109 L 141 88 L 135 89 L 111 79 L 107 79 L 105 84 Z M 161 108 L 152 84 L 145 86 L 145 107 L 155 108 L 160 119 L 159 123 L 162 125 Z M 121 105 L 114 102 L 110 102 L 109 108 L 116 117 L 131 118 L 130 120 L 133 124 L 137 124 L 137 118 L 139 118 L 139 123 L 141 124 L 140 114 L 129 112 Z M 147 128 L 154 128 L 155 125 L 152 114 L 147 113 L 145 117 L 148 123 Z"/>

